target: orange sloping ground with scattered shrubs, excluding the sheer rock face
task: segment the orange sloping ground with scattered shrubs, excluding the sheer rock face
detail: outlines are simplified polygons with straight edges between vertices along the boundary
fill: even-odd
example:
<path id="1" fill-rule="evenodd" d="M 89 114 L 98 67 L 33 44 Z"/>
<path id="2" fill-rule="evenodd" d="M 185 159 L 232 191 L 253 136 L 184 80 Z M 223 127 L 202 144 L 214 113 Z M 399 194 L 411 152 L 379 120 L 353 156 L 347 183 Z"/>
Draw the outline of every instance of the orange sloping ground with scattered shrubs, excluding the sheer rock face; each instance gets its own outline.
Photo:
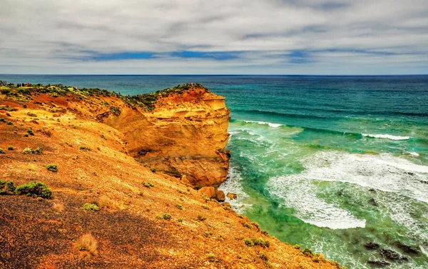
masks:
<path id="1" fill-rule="evenodd" d="M 66 89 L 2 92 L 0 113 L 6 122 L 1 124 L 1 147 L 8 148 L 10 144 L 14 148 L 0 156 L 5 163 L 1 168 L 3 179 L 16 186 L 30 179 L 44 181 L 54 196 L 0 196 L 2 218 L 7 223 L 0 232 L 9 253 L 9 258 L 2 257 L 6 268 L 13 267 L 18 257 L 25 261 L 26 268 L 61 268 L 64 263 L 73 264 L 72 268 L 103 268 L 106 263 L 120 268 L 124 259 L 125 268 L 173 264 L 198 268 L 339 268 L 322 255 L 280 243 L 227 205 L 186 187 L 183 178 L 168 176 L 161 173 L 162 168 L 158 171 L 156 166 L 136 161 L 127 148 L 129 136 L 115 126 L 121 126 L 118 118 L 143 109 L 136 107 L 141 99 L 100 90 Z M 114 103 L 118 110 L 104 102 Z M 96 113 L 103 118 L 97 118 Z M 203 121 L 198 116 L 197 122 Z M 120 120 L 126 122 L 123 118 Z M 183 126 L 183 121 L 180 124 Z M 224 143 L 225 139 L 218 141 Z M 25 148 L 43 151 L 23 154 Z M 55 163 L 58 170 L 46 170 L 46 163 Z M 100 203 L 100 199 L 104 202 Z M 100 209 L 84 210 L 86 203 Z M 137 224 L 141 222 L 146 227 L 143 233 Z M 18 235 L 24 230 L 32 231 L 33 236 L 27 238 L 24 248 L 12 248 L 11 242 L 22 240 Z M 96 254 L 70 247 L 85 233 L 98 240 Z M 141 248 L 141 244 L 146 247 Z M 133 247 L 124 248 L 125 245 Z M 34 251 L 41 258 L 29 258 Z M 91 258 L 79 258 L 82 254 Z"/>

